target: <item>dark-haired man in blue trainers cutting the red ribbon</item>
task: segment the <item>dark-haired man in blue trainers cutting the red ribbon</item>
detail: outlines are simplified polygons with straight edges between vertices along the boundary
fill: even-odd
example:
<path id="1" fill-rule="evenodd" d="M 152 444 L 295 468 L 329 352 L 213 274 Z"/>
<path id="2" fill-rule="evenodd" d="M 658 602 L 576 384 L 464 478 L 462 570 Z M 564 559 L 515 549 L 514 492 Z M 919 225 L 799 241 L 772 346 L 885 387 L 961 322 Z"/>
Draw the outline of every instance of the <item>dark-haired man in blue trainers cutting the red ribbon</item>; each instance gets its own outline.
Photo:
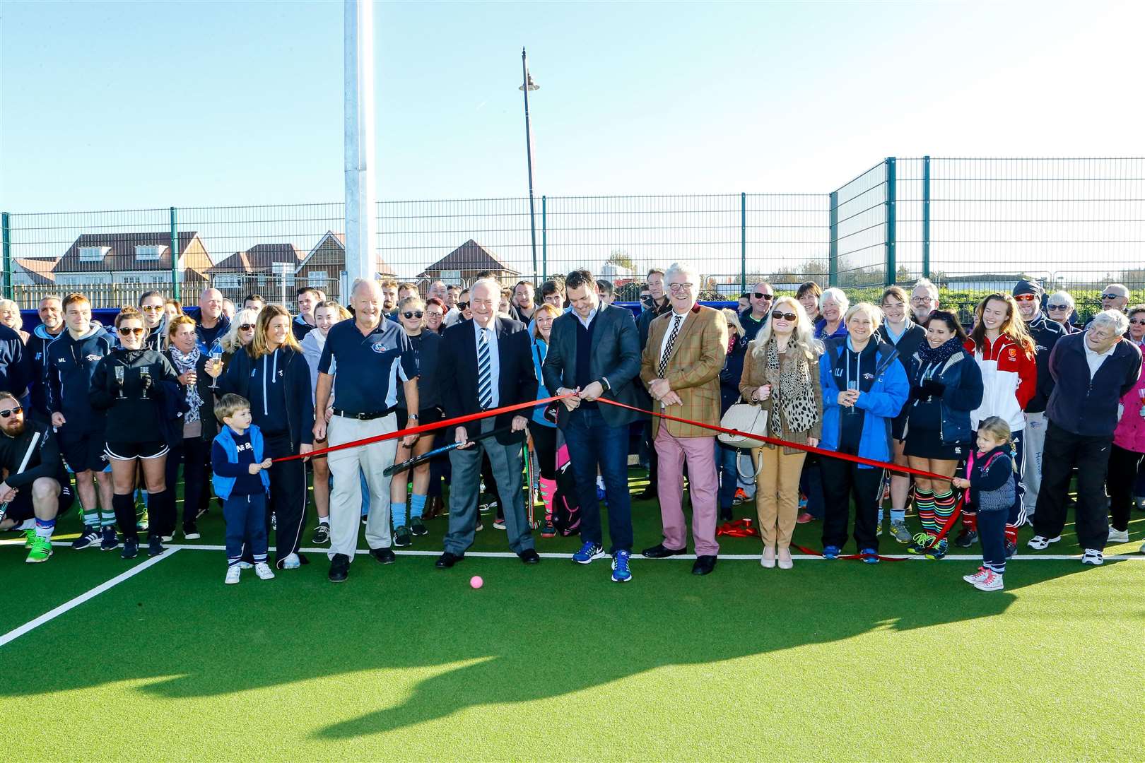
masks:
<path id="1" fill-rule="evenodd" d="M 641 406 L 640 336 L 632 312 L 600 304 L 597 283 L 587 270 L 574 270 L 564 281 L 572 310 L 553 320 L 548 353 L 542 368 L 545 387 L 569 395 L 556 424 L 564 432 L 581 504 L 581 550 L 577 564 L 603 556 L 597 469 L 605 478 L 608 534 L 613 541 L 613 580 L 632 579 L 632 504 L 629 498 L 629 424 L 642 414 L 601 405 L 600 397 Z"/>

